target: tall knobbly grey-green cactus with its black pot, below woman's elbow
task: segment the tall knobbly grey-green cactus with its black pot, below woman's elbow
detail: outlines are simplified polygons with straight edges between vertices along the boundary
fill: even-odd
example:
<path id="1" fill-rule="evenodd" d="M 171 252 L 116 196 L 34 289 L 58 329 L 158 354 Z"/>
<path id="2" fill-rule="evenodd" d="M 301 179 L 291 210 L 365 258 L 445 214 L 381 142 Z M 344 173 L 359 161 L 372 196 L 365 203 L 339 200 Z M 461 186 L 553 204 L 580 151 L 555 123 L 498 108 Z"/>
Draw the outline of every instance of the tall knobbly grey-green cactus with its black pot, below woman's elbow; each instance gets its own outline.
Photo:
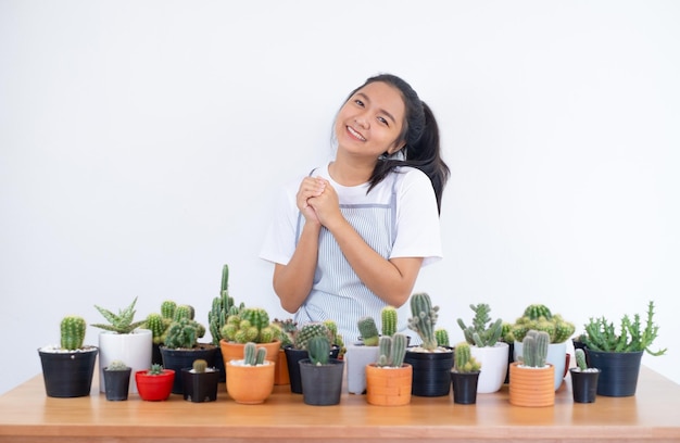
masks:
<path id="1" fill-rule="evenodd" d="M 439 306 L 433 306 L 430 296 L 415 293 L 411 296 L 408 328 L 416 331 L 421 344 L 406 350 L 404 362 L 413 366 L 412 394 L 418 396 L 449 395 L 453 350 L 439 345 L 435 336 Z"/>

